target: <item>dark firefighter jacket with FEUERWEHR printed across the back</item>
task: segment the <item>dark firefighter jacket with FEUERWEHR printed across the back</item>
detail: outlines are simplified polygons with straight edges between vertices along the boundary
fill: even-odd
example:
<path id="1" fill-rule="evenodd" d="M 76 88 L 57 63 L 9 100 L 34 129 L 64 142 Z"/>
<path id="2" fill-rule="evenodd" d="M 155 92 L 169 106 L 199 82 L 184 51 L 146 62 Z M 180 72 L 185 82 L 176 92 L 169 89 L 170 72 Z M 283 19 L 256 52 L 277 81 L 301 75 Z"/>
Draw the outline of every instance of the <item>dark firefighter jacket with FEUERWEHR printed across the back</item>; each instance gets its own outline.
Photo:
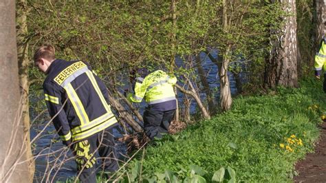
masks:
<path id="1" fill-rule="evenodd" d="M 47 73 L 45 101 L 61 140 L 83 140 L 116 124 L 107 88 L 87 63 L 56 59 Z"/>

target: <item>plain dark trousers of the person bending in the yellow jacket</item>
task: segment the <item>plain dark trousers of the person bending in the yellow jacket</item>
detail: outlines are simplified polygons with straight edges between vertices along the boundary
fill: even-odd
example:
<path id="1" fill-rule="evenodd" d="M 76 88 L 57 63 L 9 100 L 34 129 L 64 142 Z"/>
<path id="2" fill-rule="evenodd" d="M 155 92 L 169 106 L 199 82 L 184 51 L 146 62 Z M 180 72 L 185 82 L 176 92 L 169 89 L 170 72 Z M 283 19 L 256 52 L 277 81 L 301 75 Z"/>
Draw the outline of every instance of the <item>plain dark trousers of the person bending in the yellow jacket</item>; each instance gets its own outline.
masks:
<path id="1" fill-rule="evenodd" d="M 171 111 L 157 111 L 146 108 L 144 111 L 144 131 L 153 140 L 154 137 L 162 138 L 161 133 L 168 133 L 168 129 L 175 114 L 175 109 Z"/>

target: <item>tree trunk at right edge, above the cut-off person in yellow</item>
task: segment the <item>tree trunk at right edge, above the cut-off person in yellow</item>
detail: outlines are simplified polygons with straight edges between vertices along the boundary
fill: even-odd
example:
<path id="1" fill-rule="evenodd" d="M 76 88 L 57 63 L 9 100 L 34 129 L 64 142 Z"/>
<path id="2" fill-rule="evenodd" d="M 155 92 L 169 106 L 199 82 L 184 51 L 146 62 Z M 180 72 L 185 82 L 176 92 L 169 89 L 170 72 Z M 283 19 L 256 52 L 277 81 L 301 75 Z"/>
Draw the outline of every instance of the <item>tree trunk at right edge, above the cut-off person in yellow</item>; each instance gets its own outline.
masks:
<path id="1" fill-rule="evenodd" d="M 316 12 L 317 12 L 317 29 L 316 39 L 317 44 L 326 34 L 326 0 L 316 0 Z M 318 45 L 319 46 L 319 45 Z"/>

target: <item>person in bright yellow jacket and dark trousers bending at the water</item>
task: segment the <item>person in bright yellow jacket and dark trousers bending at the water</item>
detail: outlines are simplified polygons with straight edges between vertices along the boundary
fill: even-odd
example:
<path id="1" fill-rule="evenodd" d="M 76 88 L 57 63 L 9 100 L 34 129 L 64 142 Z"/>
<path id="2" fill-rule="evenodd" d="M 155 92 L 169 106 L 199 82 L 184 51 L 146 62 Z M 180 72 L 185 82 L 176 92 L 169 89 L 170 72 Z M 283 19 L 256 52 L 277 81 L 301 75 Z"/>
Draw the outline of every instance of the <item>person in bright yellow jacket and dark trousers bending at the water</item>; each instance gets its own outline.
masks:
<path id="1" fill-rule="evenodd" d="M 153 138 L 162 138 L 168 133 L 171 120 L 177 109 L 173 86 L 177 78 L 157 70 L 149 74 L 147 69 L 135 69 L 131 72 L 134 94 L 127 94 L 129 101 L 140 103 L 144 98 L 148 106 L 143 115 L 144 131 Z"/>

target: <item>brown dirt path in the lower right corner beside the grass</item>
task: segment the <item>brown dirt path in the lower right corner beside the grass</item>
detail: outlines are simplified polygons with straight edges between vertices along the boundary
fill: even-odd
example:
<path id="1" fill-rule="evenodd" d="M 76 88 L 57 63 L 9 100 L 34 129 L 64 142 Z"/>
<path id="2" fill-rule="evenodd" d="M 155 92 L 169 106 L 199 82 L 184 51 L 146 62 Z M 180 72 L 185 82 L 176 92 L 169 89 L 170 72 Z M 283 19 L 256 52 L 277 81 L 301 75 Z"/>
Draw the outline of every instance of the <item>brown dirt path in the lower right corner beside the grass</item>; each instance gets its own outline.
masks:
<path id="1" fill-rule="evenodd" d="M 314 153 L 308 153 L 305 160 L 296 163 L 298 176 L 294 182 L 326 182 L 326 122 L 320 125 L 320 140 Z"/>

